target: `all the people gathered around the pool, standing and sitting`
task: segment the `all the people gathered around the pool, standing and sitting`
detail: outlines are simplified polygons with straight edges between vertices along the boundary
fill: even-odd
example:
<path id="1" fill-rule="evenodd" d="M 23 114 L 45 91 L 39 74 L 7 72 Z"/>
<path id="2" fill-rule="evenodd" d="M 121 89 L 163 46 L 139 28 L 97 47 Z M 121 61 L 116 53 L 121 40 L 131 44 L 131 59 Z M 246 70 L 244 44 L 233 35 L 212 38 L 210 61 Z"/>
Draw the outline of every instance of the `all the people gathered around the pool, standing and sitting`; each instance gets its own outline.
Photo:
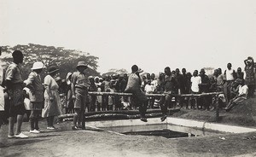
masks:
<path id="1" fill-rule="evenodd" d="M 3 69 L 0 67 L 0 112 L 1 120 L 4 113 L 9 117 L 9 138 L 26 138 L 21 132 L 23 116 L 27 113 L 31 130 L 30 133 L 40 133 L 38 120 L 40 117 L 47 120 L 48 130 L 55 130 L 54 119 L 62 113 L 74 113 L 73 130 L 84 128 L 81 125 L 83 113 L 137 109 L 141 120 L 147 122 L 146 111 L 148 108 L 160 108 L 161 121 L 167 116 L 167 108 L 206 109 L 214 110 L 216 102 L 220 102 L 227 112 L 253 96 L 255 90 L 255 64 L 252 57 L 244 61 L 243 73 L 241 67 L 232 68 L 231 63 L 222 73 L 222 69 L 214 70 L 212 76 L 207 76 L 205 69 L 200 72 L 195 70 L 187 73 L 183 68 L 174 71 L 166 67 L 158 77 L 154 73 L 142 74 L 137 65 L 131 67 L 131 74 L 113 74 L 98 76 L 85 76 L 87 65 L 79 61 L 76 72 L 67 73 L 65 79 L 60 78 L 59 69 L 56 66 L 44 67 L 44 63 L 33 63 L 32 72 L 26 80 L 21 78 L 20 64 L 23 62 L 23 54 L 20 50 L 13 52 L 13 63 L 9 65 L 3 79 Z M 47 68 L 47 76 L 43 79 L 40 73 Z M 120 95 L 89 95 L 88 92 L 118 92 L 132 93 L 132 96 Z M 223 92 L 216 96 L 202 96 L 198 98 L 181 97 L 183 94 L 201 94 L 210 92 Z M 166 94 L 154 96 L 147 94 Z M 177 95 L 177 96 L 175 96 Z M 27 112 L 27 111 L 30 112 Z M 15 120 L 17 121 L 14 130 Z M 1 126 L 0 121 L 0 126 Z"/>

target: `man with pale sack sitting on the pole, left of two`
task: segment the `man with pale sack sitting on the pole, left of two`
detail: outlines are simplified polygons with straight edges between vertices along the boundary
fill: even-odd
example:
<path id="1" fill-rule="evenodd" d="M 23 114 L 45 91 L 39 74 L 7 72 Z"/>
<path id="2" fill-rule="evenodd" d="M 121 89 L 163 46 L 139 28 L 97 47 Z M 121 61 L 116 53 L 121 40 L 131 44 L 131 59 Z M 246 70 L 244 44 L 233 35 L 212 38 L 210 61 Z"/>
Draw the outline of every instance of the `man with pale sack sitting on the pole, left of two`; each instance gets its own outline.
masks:
<path id="1" fill-rule="evenodd" d="M 146 112 L 147 112 L 147 97 L 141 90 L 142 80 L 138 73 L 137 65 L 131 67 L 131 74 L 128 78 L 128 83 L 125 88 L 125 92 L 132 93 L 132 99 L 139 106 L 139 112 L 141 115 L 141 120 L 147 122 Z"/>

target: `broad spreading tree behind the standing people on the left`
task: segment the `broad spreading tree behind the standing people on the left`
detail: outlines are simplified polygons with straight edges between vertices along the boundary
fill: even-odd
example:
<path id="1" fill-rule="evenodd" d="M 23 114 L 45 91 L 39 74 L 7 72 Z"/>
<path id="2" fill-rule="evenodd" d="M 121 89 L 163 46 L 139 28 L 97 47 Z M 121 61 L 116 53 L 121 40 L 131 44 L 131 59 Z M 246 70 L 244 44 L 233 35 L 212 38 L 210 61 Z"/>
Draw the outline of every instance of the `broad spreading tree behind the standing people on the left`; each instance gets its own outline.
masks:
<path id="1" fill-rule="evenodd" d="M 12 61 L 10 55 L 15 49 L 19 49 L 24 54 L 24 75 L 27 77 L 30 73 L 30 68 L 35 61 L 43 61 L 46 67 L 50 65 L 57 65 L 60 68 L 61 78 L 65 78 L 68 72 L 75 71 L 75 67 L 79 61 L 85 61 L 88 64 L 88 75 L 100 74 L 96 72 L 98 67 L 98 57 L 90 55 L 89 53 L 75 50 L 64 49 L 63 47 L 45 46 L 40 44 L 18 44 L 14 47 L 3 46 L 2 51 L 5 55 L 3 61 L 9 64 Z"/>

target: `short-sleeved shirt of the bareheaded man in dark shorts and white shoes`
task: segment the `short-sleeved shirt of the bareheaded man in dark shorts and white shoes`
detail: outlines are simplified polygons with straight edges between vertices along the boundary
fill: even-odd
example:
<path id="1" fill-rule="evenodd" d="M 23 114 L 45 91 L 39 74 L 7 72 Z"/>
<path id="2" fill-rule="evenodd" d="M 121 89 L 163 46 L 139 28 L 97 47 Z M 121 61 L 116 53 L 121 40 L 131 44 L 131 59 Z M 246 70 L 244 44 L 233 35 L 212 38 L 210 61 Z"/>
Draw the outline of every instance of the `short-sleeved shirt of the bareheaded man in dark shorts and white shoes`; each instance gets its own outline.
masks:
<path id="1" fill-rule="evenodd" d="M 5 79 L 12 83 L 22 83 L 20 67 L 16 63 L 11 63 L 6 70 Z"/>

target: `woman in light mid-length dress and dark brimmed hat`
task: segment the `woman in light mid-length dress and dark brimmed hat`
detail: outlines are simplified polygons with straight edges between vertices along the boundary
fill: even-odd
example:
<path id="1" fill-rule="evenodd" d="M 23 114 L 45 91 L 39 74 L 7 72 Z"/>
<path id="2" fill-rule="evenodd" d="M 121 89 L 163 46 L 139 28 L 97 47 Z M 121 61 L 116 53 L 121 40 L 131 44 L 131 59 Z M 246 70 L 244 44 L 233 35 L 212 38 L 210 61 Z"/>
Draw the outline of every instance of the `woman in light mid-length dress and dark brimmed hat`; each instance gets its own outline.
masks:
<path id="1" fill-rule="evenodd" d="M 47 120 L 47 129 L 55 130 L 54 118 L 61 114 L 59 106 L 61 99 L 59 96 L 59 85 L 56 83 L 55 78 L 59 73 L 59 69 L 55 66 L 49 67 L 48 75 L 44 78 L 44 109 L 42 117 Z"/>

